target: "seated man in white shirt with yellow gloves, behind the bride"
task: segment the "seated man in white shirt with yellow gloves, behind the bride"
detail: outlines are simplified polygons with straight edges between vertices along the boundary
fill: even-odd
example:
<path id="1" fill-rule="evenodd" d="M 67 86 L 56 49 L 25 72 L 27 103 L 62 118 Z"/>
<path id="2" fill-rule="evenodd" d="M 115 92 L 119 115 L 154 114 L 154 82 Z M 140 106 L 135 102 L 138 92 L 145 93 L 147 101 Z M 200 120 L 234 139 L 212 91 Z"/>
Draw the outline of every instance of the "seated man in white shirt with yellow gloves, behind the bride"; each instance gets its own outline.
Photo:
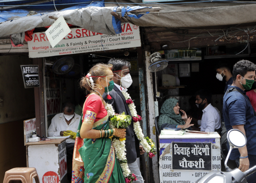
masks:
<path id="1" fill-rule="evenodd" d="M 62 113 L 56 114 L 52 118 L 52 123 L 48 128 L 48 137 L 70 137 L 66 140 L 67 164 L 68 164 L 68 180 L 72 176 L 72 158 L 78 129 L 80 115 L 74 112 L 75 105 L 73 103 L 64 103 Z"/>

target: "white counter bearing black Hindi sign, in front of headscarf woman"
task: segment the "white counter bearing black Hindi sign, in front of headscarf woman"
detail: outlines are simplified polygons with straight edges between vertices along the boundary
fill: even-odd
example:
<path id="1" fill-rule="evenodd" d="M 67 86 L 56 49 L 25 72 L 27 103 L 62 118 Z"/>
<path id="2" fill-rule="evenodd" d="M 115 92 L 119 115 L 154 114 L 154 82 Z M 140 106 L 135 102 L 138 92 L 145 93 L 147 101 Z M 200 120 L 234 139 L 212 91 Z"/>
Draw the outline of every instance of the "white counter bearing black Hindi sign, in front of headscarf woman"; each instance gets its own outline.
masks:
<path id="1" fill-rule="evenodd" d="M 160 135 L 160 183 L 194 183 L 221 171 L 220 135 Z"/>

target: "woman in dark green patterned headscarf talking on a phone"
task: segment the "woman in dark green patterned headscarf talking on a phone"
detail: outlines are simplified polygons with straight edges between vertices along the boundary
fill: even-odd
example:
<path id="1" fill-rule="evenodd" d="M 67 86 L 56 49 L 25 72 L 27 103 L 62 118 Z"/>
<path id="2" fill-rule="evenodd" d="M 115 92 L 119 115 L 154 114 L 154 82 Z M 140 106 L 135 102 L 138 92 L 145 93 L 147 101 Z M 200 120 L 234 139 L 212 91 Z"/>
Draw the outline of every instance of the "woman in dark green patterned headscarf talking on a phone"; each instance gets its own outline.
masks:
<path id="1" fill-rule="evenodd" d="M 183 113 L 182 116 L 180 115 L 180 111 Z M 160 130 L 164 129 L 164 127 L 191 129 L 190 126 L 194 125 L 190 125 L 191 118 L 187 117 L 185 111 L 180 110 L 178 100 L 175 98 L 169 98 L 164 101 L 160 112 L 162 113 L 158 120 L 158 129 Z"/>

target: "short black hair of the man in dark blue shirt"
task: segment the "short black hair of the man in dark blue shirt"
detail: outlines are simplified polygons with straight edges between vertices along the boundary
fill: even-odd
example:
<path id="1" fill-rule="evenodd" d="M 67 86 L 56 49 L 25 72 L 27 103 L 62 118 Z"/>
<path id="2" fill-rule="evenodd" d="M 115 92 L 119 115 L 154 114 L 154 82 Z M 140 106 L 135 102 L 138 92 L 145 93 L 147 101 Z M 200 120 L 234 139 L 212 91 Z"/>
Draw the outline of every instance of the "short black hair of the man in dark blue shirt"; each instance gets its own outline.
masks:
<path id="1" fill-rule="evenodd" d="M 239 74 L 242 77 L 246 75 L 247 72 L 255 71 L 256 65 L 248 60 L 240 60 L 236 62 L 233 68 L 233 81 L 236 80 L 236 76 Z"/>

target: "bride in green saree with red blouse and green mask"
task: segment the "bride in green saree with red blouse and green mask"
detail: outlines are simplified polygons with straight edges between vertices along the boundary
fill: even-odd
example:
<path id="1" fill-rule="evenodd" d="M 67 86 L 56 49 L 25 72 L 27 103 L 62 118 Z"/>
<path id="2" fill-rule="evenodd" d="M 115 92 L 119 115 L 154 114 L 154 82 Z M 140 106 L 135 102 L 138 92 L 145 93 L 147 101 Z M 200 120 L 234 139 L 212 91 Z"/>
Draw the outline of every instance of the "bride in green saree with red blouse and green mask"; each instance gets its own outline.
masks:
<path id="1" fill-rule="evenodd" d="M 125 129 L 110 129 L 104 92 L 114 88 L 111 65 L 96 64 L 80 85 L 90 92 L 81 115 L 72 165 L 72 183 L 125 183 L 109 137 L 125 137 Z"/>

